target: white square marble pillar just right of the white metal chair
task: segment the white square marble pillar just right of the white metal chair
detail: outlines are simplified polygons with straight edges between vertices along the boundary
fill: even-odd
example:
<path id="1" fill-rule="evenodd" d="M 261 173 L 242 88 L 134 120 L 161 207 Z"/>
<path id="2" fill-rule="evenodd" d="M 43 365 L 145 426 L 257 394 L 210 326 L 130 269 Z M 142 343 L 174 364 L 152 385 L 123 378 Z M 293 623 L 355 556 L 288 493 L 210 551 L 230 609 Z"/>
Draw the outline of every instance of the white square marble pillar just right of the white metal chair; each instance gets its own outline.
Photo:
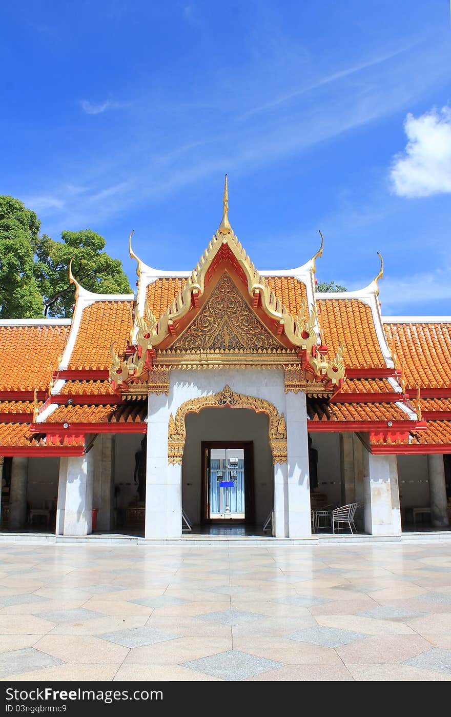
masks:
<path id="1" fill-rule="evenodd" d="M 364 456 L 365 531 L 374 536 L 401 535 L 396 455 Z"/>

